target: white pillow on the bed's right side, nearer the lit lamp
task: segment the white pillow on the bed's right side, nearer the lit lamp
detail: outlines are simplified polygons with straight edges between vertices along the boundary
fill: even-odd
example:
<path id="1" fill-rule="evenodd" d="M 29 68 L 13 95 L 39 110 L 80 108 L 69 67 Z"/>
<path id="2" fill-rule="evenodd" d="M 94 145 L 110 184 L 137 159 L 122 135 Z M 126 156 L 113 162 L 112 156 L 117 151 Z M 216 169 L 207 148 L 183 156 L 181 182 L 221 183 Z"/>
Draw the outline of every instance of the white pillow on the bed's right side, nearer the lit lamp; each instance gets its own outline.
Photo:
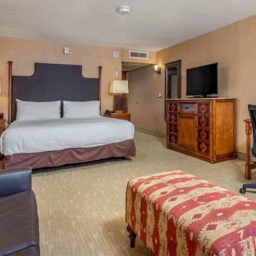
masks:
<path id="1" fill-rule="evenodd" d="M 90 118 L 100 116 L 99 100 L 67 101 L 63 100 L 63 118 Z"/>

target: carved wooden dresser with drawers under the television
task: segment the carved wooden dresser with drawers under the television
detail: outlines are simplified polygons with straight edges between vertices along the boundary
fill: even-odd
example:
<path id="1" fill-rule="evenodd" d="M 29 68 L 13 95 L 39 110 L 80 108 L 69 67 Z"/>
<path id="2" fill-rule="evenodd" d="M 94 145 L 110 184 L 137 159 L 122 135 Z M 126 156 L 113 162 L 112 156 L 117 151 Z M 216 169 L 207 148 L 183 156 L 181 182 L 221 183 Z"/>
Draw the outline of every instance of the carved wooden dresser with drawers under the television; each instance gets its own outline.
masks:
<path id="1" fill-rule="evenodd" d="M 236 158 L 236 99 L 166 99 L 170 150 L 215 163 Z"/>

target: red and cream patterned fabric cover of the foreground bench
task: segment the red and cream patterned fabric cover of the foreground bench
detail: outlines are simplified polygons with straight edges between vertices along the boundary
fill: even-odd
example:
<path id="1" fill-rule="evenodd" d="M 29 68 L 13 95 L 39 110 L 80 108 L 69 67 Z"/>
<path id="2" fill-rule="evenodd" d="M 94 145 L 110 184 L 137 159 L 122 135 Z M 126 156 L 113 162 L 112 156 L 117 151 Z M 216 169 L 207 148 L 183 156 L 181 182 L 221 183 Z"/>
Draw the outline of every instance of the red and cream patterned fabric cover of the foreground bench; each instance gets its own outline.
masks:
<path id="1" fill-rule="evenodd" d="M 129 181 L 126 222 L 156 255 L 256 254 L 256 202 L 181 171 Z"/>

